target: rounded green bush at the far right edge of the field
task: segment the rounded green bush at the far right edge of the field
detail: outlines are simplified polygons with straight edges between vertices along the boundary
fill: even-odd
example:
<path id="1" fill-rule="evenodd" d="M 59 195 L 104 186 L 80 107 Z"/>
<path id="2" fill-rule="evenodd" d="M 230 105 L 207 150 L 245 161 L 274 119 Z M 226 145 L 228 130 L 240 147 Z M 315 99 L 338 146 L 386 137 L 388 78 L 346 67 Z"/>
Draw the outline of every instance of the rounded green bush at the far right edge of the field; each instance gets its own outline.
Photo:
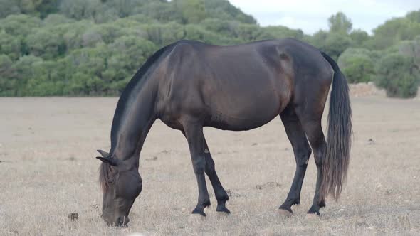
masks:
<path id="1" fill-rule="evenodd" d="M 414 67 L 413 58 L 392 53 L 385 55 L 377 65 L 378 87 L 387 90 L 388 97 L 415 97 L 419 86 L 420 73 Z"/>

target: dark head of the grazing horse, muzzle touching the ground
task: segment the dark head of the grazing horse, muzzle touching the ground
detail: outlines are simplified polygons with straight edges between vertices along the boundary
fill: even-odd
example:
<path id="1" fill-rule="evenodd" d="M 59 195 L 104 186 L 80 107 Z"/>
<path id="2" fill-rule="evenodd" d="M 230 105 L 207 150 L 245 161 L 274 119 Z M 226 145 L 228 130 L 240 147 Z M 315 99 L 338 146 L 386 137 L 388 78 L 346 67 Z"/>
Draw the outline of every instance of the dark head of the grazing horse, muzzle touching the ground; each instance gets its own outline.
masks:
<path id="1" fill-rule="evenodd" d="M 103 188 L 102 218 L 108 225 L 125 226 L 128 213 L 142 191 L 142 178 L 135 165 L 110 157 L 98 150 L 103 163 L 99 180 Z"/>

